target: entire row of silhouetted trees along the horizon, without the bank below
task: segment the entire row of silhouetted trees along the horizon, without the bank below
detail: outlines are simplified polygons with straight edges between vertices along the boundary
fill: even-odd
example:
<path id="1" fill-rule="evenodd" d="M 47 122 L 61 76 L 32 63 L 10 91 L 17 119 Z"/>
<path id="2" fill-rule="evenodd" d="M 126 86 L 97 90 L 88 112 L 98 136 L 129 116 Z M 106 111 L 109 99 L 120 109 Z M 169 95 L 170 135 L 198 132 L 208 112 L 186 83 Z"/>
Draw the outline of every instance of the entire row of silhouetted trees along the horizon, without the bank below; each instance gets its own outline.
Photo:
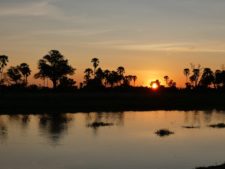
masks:
<path id="1" fill-rule="evenodd" d="M 28 77 L 31 75 L 31 69 L 27 63 L 21 63 L 17 66 L 11 66 L 6 71 L 9 58 L 6 55 L 0 55 L 0 85 L 7 86 L 28 86 Z M 91 60 L 92 68 L 84 70 L 84 81 L 80 83 L 81 89 L 103 89 L 114 87 L 135 86 L 136 75 L 126 75 L 125 68 L 119 66 L 116 70 L 103 70 L 100 67 L 100 60 L 93 58 Z M 50 80 L 54 89 L 56 88 L 76 88 L 76 81 L 70 78 L 75 73 L 69 61 L 58 50 L 51 50 L 42 59 L 38 61 L 38 72 L 34 74 L 35 79 L 44 81 Z M 197 88 L 225 88 L 225 69 L 213 71 L 211 68 L 203 68 L 200 65 L 191 64 L 190 68 L 185 68 L 183 74 L 186 77 L 186 89 Z M 167 88 L 176 89 L 176 82 L 164 76 Z M 161 86 L 159 80 L 151 82 L 149 85 Z"/>

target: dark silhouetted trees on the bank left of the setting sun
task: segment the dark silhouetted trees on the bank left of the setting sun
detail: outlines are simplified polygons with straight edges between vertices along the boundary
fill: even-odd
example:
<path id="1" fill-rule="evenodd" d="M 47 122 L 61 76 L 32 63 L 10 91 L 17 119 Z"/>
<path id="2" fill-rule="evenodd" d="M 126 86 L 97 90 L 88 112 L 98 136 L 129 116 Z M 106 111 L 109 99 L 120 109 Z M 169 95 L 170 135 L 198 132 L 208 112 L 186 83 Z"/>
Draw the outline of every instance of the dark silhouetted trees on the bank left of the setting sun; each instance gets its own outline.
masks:
<path id="1" fill-rule="evenodd" d="M 28 85 L 28 77 L 31 75 L 31 69 L 27 63 L 21 63 L 17 66 L 11 66 L 4 72 L 8 65 L 9 58 L 6 55 L 0 55 L 0 84 L 7 86 Z M 93 68 L 87 68 L 84 71 L 84 81 L 80 83 L 80 88 L 105 88 L 116 86 L 135 85 L 136 75 L 125 75 L 125 68 L 119 66 L 117 70 L 103 70 L 99 64 L 98 58 L 91 60 Z M 56 88 L 75 88 L 76 81 L 70 78 L 75 73 L 69 61 L 58 50 L 51 50 L 38 61 L 38 72 L 34 74 L 35 79 L 50 80 L 54 89 Z"/>

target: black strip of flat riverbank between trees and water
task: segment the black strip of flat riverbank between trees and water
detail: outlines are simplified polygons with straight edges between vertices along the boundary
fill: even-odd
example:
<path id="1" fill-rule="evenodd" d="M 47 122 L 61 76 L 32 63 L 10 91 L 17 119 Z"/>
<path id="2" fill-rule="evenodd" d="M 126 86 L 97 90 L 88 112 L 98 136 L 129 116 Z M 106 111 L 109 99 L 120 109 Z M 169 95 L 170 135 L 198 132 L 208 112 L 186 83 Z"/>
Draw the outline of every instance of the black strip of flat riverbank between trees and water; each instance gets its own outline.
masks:
<path id="1" fill-rule="evenodd" d="M 0 100 L 0 113 L 10 114 L 17 112 L 225 110 L 225 95 L 220 92 L 9 92 L 1 93 Z"/>

